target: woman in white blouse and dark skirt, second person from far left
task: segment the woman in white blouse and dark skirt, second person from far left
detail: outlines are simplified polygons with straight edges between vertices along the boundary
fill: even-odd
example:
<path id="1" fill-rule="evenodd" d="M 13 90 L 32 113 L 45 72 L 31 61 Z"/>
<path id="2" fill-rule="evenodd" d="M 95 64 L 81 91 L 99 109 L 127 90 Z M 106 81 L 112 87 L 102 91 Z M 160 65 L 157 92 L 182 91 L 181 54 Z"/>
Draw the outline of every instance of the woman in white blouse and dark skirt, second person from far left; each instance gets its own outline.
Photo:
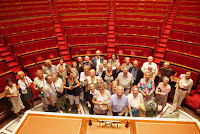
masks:
<path id="1" fill-rule="evenodd" d="M 28 76 L 24 76 L 23 71 L 19 71 L 17 73 L 17 76 L 20 78 L 18 80 L 18 85 L 21 88 L 22 97 L 24 98 L 25 101 L 27 101 L 30 108 L 33 108 L 34 107 L 34 95 L 30 88 L 33 81 Z"/>

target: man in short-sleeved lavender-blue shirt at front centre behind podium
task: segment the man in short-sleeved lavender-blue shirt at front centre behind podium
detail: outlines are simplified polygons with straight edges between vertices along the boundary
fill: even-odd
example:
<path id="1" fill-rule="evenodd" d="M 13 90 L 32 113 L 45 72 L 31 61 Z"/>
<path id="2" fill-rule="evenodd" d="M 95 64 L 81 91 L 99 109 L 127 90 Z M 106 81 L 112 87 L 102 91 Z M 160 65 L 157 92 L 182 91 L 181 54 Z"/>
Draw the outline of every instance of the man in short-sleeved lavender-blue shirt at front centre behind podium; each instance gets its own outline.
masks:
<path id="1" fill-rule="evenodd" d="M 110 116 L 124 116 L 127 109 L 131 112 L 128 97 L 123 92 L 124 88 L 117 86 L 117 93 L 111 96 L 109 104 Z"/>

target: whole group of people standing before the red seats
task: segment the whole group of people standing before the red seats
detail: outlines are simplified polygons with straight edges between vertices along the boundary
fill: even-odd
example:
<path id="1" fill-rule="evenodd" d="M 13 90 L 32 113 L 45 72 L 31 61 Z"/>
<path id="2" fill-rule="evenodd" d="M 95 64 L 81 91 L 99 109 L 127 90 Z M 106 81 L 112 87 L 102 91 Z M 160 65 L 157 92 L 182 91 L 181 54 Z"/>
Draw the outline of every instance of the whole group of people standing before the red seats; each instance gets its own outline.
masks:
<path id="1" fill-rule="evenodd" d="M 116 54 L 112 54 L 109 60 L 100 55 L 97 50 L 91 60 L 88 56 L 84 60 L 78 57 L 78 62 L 73 61 L 72 64 L 65 64 L 61 58 L 57 66 L 46 60 L 46 65 L 37 70 L 33 81 L 24 72 L 18 72 L 18 86 L 8 78 L 5 96 L 12 102 L 14 113 L 19 115 L 24 109 L 19 89 L 30 108 L 34 107 L 32 90 L 37 90 L 45 110 L 50 112 L 65 110 L 66 99 L 70 103 L 68 111 L 74 104 L 80 111 L 81 92 L 90 114 L 124 116 L 128 113 L 131 117 L 145 117 L 149 116 L 149 109 L 158 111 L 158 105 L 162 106 L 160 113 L 163 111 L 171 83 L 176 78 L 176 71 L 169 67 L 168 62 L 158 69 L 153 57 L 149 56 L 139 68 L 139 62 L 134 60 L 131 63 L 129 57 L 121 65 Z M 181 108 L 182 100 L 190 93 L 193 86 L 190 77 L 191 72 L 187 71 L 176 81 L 170 113 Z M 152 104 L 153 107 L 149 108 Z"/>

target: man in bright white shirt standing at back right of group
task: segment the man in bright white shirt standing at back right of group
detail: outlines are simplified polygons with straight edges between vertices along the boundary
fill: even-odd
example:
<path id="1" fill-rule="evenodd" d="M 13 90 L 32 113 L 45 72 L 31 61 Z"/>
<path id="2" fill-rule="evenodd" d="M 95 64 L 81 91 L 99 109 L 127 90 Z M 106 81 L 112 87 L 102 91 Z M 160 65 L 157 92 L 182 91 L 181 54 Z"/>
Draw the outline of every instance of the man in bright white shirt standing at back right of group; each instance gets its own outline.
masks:
<path id="1" fill-rule="evenodd" d="M 153 67 L 153 72 L 155 74 L 157 74 L 157 72 L 158 72 L 157 64 L 153 62 L 153 57 L 152 56 L 148 57 L 148 62 L 143 63 L 142 68 L 141 68 L 142 72 L 144 73 L 145 71 L 148 71 L 148 67 L 150 65 Z"/>

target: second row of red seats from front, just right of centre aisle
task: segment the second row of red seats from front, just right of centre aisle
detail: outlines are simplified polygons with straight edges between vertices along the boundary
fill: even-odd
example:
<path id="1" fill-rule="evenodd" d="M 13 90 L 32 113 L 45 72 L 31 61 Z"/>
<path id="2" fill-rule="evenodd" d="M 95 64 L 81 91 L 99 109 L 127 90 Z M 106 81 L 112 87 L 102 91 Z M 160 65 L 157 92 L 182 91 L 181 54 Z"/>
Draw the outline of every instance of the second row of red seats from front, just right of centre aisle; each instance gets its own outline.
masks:
<path id="1" fill-rule="evenodd" d="M 157 43 L 157 37 L 117 35 L 117 43 L 154 47 Z"/>

